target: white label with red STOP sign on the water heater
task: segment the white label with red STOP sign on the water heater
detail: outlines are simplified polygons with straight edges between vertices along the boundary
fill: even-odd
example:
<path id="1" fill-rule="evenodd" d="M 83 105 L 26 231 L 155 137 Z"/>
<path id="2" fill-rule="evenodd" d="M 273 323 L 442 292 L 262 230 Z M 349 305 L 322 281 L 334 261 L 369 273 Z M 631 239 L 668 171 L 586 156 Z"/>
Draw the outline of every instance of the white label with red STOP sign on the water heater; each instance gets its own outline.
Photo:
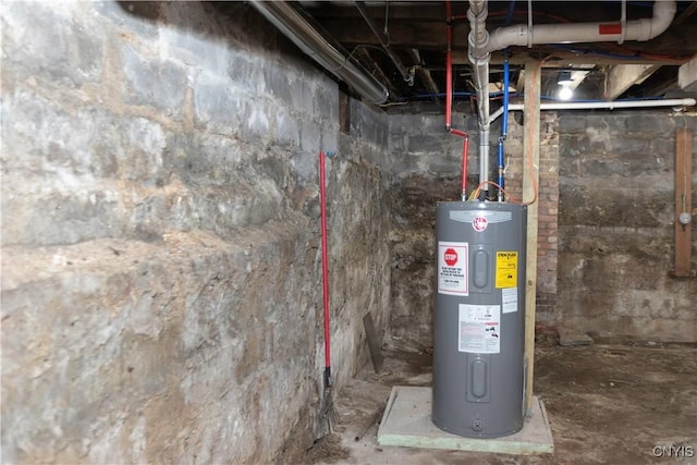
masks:
<path id="1" fill-rule="evenodd" d="M 469 295 L 469 245 L 466 242 L 438 242 L 438 293 Z"/>

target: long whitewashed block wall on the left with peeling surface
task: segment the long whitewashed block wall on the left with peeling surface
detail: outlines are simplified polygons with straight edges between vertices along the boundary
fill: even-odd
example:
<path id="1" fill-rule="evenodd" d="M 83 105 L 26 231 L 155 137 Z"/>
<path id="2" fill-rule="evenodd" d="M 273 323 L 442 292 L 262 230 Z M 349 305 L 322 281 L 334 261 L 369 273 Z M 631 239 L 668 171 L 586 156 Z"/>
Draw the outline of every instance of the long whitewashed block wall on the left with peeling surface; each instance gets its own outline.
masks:
<path id="1" fill-rule="evenodd" d="M 292 461 L 388 321 L 388 130 L 242 2 L 2 8 L 2 460 Z M 387 157 L 387 155 L 386 155 Z M 363 237 L 357 243 L 356 237 Z"/>

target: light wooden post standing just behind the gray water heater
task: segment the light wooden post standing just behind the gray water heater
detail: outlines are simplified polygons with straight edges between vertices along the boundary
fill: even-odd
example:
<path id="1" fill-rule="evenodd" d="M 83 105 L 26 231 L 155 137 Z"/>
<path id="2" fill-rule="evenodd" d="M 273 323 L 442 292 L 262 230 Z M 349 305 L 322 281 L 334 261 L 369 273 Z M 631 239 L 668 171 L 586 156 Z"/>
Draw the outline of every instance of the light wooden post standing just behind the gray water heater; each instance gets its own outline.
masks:
<path id="1" fill-rule="evenodd" d="M 525 64 L 525 109 L 523 125 L 523 200 L 535 201 L 527 207 L 527 248 L 525 286 L 525 408 L 533 405 L 533 374 L 535 368 L 535 299 L 537 297 L 537 191 L 540 159 L 540 74 L 542 63 Z"/>

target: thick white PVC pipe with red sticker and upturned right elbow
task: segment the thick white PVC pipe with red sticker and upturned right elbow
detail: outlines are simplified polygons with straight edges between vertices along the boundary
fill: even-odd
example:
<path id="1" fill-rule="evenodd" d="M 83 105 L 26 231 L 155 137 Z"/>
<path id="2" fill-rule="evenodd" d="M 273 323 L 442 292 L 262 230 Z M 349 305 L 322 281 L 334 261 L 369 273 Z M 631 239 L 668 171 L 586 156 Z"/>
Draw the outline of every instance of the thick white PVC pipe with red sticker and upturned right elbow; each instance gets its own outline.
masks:
<path id="1" fill-rule="evenodd" d="M 528 44 L 573 44 L 598 41 L 650 40 L 670 26 L 675 15 L 675 1 L 655 1 L 653 16 L 622 22 L 536 24 L 531 28 L 525 24 L 499 27 L 489 36 L 485 51 L 503 50 L 509 46 Z M 533 35 L 534 33 L 534 35 Z"/>

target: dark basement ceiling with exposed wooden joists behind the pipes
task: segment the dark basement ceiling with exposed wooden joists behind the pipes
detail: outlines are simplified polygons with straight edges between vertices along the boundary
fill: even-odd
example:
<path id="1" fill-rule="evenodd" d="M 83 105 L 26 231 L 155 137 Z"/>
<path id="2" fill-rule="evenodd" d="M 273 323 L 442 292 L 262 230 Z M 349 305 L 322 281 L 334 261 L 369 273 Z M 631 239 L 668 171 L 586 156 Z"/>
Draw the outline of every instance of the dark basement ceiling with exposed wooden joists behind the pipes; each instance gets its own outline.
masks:
<path id="1" fill-rule="evenodd" d="M 390 93 L 390 106 L 442 102 L 445 91 L 447 10 L 443 1 L 299 1 L 293 3 L 322 36 Z M 531 5 L 531 10 L 529 7 Z M 453 1 L 452 59 L 455 100 L 473 99 L 467 60 L 468 2 Z M 621 1 L 490 1 L 487 29 L 506 25 L 619 23 Z M 652 1 L 628 1 L 626 20 L 650 19 Z M 570 71 L 574 100 L 695 97 L 678 86 L 678 68 L 697 53 L 697 1 L 678 1 L 668 30 L 649 41 L 535 45 L 493 52 L 490 91 L 502 88 L 503 60 L 511 91 L 524 93 L 524 63 L 543 60 L 542 95 L 555 99 L 560 71 Z M 392 58 L 390 57 L 392 54 Z M 399 71 L 413 72 L 413 83 Z M 693 85 L 695 87 L 695 85 Z M 515 95 L 515 94 L 514 94 Z"/>

